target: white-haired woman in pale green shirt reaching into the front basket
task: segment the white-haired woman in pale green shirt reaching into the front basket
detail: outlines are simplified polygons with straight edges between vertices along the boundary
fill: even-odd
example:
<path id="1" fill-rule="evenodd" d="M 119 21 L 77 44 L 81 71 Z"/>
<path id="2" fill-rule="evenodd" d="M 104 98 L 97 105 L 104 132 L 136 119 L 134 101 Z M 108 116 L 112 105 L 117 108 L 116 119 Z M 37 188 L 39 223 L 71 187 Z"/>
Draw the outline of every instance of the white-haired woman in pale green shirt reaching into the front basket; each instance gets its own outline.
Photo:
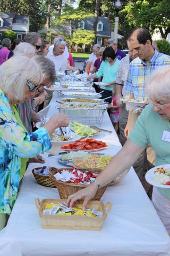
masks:
<path id="1" fill-rule="evenodd" d="M 147 95 L 152 104 L 142 111 L 125 145 L 98 175 L 95 183 L 71 195 L 67 201 L 68 205 L 72 206 L 78 199 L 84 199 L 84 208 L 87 202 L 94 197 L 98 188 L 116 179 L 124 170 L 133 165 L 148 144 L 156 152 L 156 165 L 170 164 L 170 140 L 163 137 L 165 131 L 167 137 L 170 137 L 169 81 L 170 66 L 158 68 L 148 77 Z M 152 203 L 170 233 L 170 186 L 169 188 L 154 187 Z"/>

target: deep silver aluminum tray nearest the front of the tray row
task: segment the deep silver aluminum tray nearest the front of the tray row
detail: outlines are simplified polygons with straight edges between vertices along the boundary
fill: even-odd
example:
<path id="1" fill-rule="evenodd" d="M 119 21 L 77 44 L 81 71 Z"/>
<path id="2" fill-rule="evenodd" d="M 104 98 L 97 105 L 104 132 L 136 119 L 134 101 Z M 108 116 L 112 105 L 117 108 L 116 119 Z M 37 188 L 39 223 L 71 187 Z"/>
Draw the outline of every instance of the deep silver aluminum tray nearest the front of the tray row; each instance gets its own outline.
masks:
<path id="1" fill-rule="evenodd" d="M 80 105 L 80 103 L 74 103 L 74 104 Z M 56 106 L 56 108 L 58 109 L 59 113 L 66 114 L 72 120 L 77 120 L 77 119 L 79 121 L 90 120 L 90 121 L 95 121 L 97 124 L 101 125 L 103 121 L 104 113 L 107 109 L 105 105 L 101 105 L 101 106 L 103 106 L 101 109 L 95 109 L 95 108 L 89 109 L 87 107 L 86 108 L 71 108 L 71 107 L 61 108 L 60 105 Z"/>

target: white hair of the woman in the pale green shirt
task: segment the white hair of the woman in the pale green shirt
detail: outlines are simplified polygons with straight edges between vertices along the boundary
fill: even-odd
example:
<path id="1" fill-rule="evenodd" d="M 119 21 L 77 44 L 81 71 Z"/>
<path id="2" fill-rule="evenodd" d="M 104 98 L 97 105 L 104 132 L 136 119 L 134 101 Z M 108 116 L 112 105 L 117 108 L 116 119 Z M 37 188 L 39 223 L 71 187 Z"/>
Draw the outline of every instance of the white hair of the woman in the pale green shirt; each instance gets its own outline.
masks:
<path id="1" fill-rule="evenodd" d="M 148 76 L 146 82 L 147 97 L 154 100 L 170 98 L 170 65 L 157 68 Z"/>

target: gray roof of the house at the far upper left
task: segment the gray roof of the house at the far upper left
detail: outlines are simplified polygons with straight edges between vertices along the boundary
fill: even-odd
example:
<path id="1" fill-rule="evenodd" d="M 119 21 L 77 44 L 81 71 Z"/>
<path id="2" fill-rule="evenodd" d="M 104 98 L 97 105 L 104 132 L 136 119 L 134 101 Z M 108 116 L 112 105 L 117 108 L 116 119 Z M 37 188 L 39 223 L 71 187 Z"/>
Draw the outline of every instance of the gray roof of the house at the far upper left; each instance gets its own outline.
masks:
<path id="1" fill-rule="evenodd" d="M 12 23 L 28 24 L 29 16 L 25 15 L 14 15 L 10 12 L 0 12 L 0 17 L 4 21 L 3 27 L 0 27 L 0 31 L 12 29 Z"/>

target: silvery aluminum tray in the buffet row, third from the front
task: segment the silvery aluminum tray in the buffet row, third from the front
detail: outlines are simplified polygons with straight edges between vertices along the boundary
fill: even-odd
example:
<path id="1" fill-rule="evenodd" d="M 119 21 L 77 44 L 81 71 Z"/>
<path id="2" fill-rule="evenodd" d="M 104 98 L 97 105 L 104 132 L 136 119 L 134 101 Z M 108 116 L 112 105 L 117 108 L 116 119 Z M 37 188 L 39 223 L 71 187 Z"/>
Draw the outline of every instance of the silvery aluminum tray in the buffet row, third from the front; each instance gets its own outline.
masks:
<path id="1" fill-rule="evenodd" d="M 77 95 L 76 95 L 77 94 Z M 80 95 L 78 95 L 80 94 Z M 97 92 L 72 92 L 72 91 L 64 91 L 61 94 L 61 97 L 63 98 L 90 98 L 90 99 L 99 99 L 101 98 L 101 94 Z"/>

